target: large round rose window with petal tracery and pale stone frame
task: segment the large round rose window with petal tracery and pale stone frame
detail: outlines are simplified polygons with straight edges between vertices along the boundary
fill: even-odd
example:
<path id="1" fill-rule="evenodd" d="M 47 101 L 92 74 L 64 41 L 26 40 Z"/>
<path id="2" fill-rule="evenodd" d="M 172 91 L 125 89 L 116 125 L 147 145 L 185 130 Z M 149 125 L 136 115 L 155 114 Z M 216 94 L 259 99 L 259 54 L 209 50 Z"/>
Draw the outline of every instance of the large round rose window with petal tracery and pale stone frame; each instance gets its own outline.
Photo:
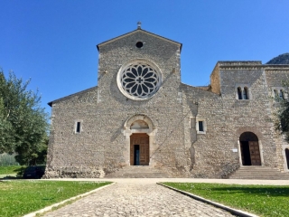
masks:
<path id="1" fill-rule="evenodd" d="M 126 97 L 144 100 L 151 98 L 159 90 L 161 77 L 161 73 L 152 65 L 135 62 L 120 69 L 117 75 L 117 85 Z"/>

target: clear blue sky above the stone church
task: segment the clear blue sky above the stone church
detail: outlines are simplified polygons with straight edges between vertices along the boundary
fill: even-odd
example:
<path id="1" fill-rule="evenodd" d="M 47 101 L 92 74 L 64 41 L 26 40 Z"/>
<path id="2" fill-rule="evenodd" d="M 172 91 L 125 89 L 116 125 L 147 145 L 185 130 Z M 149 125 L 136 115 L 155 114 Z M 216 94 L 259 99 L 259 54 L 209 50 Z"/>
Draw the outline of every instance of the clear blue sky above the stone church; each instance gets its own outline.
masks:
<path id="1" fill-rule="evenodd" d="M 96 45 L 134 31 L 182 42 L 182 82 L 208 85 L 217 61 L 289 52 L 288 0 L 1 0 L 0 66 L 47 103 L 97 85 Z"/>

